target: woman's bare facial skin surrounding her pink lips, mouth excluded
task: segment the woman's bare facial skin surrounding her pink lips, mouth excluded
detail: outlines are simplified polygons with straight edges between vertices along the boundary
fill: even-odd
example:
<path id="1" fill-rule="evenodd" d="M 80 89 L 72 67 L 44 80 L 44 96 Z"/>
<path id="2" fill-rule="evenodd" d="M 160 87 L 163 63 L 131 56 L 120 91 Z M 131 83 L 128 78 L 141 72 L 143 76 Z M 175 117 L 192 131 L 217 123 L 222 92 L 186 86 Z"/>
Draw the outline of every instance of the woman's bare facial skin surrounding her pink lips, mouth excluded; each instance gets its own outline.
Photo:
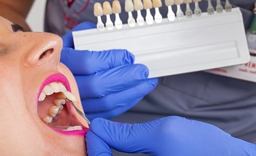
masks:
<path id="1" fill-rule="evenodd" d="M 44 124 L 38 115 L 38 93 L 43 81 L 64 74 L 79 99 L 72 73 L 60 63 L 62 40 L 38 32 L 14 32 L 0 17 L 0 151 L 1 155 L 86 155 L 85 136 L 63 135 Z M 40 55 L 48 49 L 52 53 Z M 81 102 L 75 105 L 83 110 Z M 75 114 L 75 118 L 88 125 Z"/>

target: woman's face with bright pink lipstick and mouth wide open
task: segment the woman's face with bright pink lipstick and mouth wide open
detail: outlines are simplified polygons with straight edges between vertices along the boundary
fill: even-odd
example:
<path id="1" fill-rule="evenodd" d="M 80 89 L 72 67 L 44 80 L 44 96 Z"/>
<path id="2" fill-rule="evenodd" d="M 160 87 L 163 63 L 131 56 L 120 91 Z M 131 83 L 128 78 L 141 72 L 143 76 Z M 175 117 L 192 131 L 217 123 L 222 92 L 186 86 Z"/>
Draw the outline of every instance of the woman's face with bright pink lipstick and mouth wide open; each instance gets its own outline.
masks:
<path id="1" fill-rule="evenodd" d="M 59 62 L 61 38 L 12 24 L 0 17 L 1 155 L 86 155 L 88 125 L 63 100 L 72 98 L 65 89 L 80 98 Z M 74 103 L 83 110 L 80 100 Z"/>

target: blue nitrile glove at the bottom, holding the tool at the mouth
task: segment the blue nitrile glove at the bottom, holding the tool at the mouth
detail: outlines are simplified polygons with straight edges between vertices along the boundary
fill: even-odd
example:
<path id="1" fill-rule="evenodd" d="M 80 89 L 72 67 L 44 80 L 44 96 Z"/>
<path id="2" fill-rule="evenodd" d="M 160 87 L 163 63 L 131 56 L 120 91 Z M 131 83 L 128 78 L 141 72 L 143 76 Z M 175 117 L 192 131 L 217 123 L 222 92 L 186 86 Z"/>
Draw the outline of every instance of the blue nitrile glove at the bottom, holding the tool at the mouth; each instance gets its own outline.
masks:
<path id="1" fill-rule="evenodd" d="M 110 147 L 127 153 L 158 156 L 256 155 L 256 145 L 234 138 L 211 124 L 168 116 L 126 124 L 97 118 L 86 134 L 88 155 L 112 155 Z"/>

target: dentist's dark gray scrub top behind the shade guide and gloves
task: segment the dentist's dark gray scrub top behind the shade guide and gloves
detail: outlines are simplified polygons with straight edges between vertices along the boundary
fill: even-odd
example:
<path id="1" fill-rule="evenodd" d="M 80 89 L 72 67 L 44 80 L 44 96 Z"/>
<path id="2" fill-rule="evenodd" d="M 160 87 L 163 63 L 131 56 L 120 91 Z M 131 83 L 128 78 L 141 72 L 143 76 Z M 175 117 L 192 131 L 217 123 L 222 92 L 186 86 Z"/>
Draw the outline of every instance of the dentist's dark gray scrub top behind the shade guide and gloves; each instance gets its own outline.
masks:
<path id="1" fill-rule="evenodd" d="M 63 35 L 79 22 L 96 23 L 97 18 L 93 14 L 95 2 L 102 4 L 103 0 L 48 1 L 45 31 Z M 124 1 L 120 2 L 123 9 Z M 216 6 L 215 2 L 213 1 L 214 6 Z M 241 8 L 245 28 L 248 28 L 253 16 L 252 9 L 255 0 L 232 0 L 230 2 L 234 7 Z M 167 7 L 164 0 L 162 4 L 160 12 L 166 17 Z M 199 5 L 205 12 L 207 1 L 201 1 Z M 191 7 L 194 8 L 194 5 Z M 176 7 L 173 8 L 175 11 Z M 182 9 L 185 10 L 184 4 Z M 145 17 L 145 11 L 142 14 Z M 155 14 L 154 9 L 152 9 L 152 14 Z M 135 12 L 134 17 L 136 17 Z M 111 18 L 114 19 L 113 16 Z M 121 19 L 123 22 L 127 19 L 124 9 Z M 103 21 L 105 20 L 103 17 Z M 205 72 L 161 77 L 153 92 L 145 96 L 131 110 L 113 120 L 134 123 L 169 115 L 185 116 L 189 119 L 211 123 L 234 137 L 256 144 L 256 83 Z"/>

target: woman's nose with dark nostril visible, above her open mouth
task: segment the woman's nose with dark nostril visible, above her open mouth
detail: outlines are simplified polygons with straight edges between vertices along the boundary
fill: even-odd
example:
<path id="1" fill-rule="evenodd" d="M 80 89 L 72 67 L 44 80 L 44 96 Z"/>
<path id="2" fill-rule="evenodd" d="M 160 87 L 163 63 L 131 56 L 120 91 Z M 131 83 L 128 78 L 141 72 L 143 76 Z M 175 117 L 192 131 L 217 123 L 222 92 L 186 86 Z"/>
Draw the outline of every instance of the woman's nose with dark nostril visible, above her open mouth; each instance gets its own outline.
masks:
<path id="1" fill-rule="evenodd" d="M 60 61 L 62 49 L 62 39 L 60 36 L 41 33 L 28 32 L 21 33 L 24 35 L 24 66 L 40 66 L 42 64 L 56 65 Z"/>

